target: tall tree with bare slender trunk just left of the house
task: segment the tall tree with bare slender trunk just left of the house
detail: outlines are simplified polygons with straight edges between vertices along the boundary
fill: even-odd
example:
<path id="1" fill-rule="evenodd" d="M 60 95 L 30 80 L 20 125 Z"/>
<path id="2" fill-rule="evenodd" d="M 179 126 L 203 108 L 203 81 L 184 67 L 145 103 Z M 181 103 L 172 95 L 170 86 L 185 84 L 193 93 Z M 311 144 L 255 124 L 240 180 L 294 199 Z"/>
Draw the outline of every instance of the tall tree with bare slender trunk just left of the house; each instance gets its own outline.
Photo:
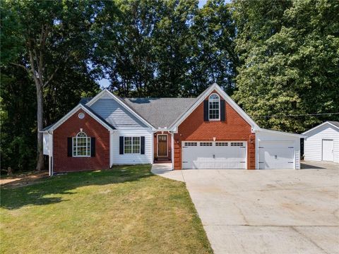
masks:
<path id="1" fill-rule="evenodd" d="M 15 38 L 1 61 L 22 67 L 35 83 L 37 98 L 37 170 L 43 168 L 42 127 L 44 89 L 68 61 L 85 61 L 92 49 L 90 27 L 95 18 L 91 1 L 2 1 L 1 39 Z M 11 32 L 11 31 L 16 32 Z M 6 36 L 8 32 L 11 36 Z M 64 70 L 63 70 L 64 71 Z"/>

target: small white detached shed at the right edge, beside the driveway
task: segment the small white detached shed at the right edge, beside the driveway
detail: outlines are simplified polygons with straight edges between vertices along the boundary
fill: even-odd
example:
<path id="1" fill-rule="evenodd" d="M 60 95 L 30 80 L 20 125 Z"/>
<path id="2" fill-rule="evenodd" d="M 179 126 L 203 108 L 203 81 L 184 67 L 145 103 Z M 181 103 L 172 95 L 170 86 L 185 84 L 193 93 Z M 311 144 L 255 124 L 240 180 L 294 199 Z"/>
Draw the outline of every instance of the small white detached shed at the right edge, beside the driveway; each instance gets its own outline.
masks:
<path id="1" fill-rule="evenodd" d="M 339 122 L 326 121 L 302 133 L 304 159 L 339 163 Z"/>

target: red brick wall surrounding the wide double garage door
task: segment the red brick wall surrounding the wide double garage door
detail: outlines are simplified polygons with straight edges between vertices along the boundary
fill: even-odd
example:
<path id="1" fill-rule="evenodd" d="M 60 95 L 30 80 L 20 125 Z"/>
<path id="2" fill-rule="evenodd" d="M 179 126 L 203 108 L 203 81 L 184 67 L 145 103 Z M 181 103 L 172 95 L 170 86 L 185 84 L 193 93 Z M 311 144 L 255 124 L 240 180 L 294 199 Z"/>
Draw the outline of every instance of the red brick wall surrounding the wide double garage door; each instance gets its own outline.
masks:
<path id="1" fill-rule="evenodd" d="M 208 99 L 208 97 L 206 97 Z M 255 169 L 255 134 L 251 126 L 225 102 L 225 121 L 203 121 L 203 102 L 180 124 L 174 135 L 174 169 L 182 169 L 182 141 L 245 141 L 247 168 Z"/>

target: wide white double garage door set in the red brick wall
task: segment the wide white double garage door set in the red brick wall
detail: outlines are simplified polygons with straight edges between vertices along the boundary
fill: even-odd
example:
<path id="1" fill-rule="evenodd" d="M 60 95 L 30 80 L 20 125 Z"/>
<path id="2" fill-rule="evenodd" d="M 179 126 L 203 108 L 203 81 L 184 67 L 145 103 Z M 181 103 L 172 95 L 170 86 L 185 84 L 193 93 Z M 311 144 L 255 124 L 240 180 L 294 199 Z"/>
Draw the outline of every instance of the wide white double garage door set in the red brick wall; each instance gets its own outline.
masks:
<path id="1" fill-rule="evenodd" d="M 183 169 L 246 169 L 246 142 L 182 142 Z"/>

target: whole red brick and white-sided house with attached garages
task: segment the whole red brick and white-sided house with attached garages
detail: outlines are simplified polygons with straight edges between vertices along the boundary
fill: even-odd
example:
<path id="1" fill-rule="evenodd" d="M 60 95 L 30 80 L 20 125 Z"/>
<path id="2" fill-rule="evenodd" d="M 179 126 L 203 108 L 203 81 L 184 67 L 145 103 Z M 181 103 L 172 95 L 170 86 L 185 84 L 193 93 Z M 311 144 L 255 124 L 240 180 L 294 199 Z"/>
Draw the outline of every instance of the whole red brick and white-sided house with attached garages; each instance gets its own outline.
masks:
<path id="1" fill-rule="evenodd" d="M 173 169 L 299 169 L 302 135 L 260 128 L 217 84 L 196 98 L 102 90 L 44 128 L 50 174 L 114 164 Z"/>

